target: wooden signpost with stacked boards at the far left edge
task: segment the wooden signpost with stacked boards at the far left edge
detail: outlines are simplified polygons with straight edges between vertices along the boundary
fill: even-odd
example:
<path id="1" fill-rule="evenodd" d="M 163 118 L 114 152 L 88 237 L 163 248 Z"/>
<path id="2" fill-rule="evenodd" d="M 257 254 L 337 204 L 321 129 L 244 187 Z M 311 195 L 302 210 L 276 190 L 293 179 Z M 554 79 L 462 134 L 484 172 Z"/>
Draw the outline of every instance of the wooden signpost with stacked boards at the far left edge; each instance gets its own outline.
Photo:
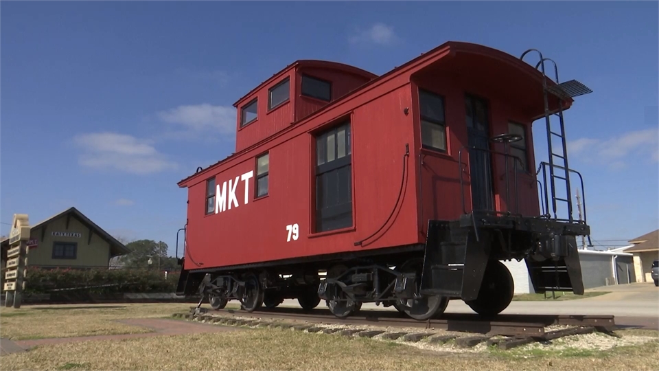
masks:
<path id="1" fill-rule="evenodd" d="M 30 223 L 26 214 L 14 214 L 12 230 L 9 234 L 9 249 L 7 250 L 7 264 L 5 282 L 5 306 L 21 307 L 21 297 L 25 290 L 25 266 L 27 266 L 27 252 L 30 251 Z M 30 241 L 32 242 L 32 241 Z M 36 244 L 36 240 L 34 240 Z"/>

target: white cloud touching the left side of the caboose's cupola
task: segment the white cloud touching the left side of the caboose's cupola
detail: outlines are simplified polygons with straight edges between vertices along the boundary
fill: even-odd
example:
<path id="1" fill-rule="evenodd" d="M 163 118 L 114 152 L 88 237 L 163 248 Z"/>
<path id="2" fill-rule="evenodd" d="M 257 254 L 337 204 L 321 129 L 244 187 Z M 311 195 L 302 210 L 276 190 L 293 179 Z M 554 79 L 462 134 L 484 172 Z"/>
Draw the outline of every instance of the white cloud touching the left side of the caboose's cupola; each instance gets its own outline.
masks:
<path id="1" fill-rule="evenodd" d="M 233 135 L 236 110 L 233 106 L 213 106 L 203 103 L 178 106 L 161 111 L 158 117 L 164 122 L 183 126 L 192 135 Z"/>

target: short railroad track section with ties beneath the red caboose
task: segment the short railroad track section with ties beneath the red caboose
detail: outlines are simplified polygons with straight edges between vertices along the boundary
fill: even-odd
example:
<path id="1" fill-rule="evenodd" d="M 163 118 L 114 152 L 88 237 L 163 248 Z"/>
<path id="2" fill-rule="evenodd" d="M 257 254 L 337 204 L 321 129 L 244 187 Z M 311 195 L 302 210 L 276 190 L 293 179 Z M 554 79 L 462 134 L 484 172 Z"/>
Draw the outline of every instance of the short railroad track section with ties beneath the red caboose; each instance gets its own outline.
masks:
<path id="1" fill-rule="evenodd" d="M 347 318 L 334 317 L 327 309 L 273 308 L 263 311 L 246 311 L 191 307 L 189 313 L 177 313 L 174 317 L 228 324 L 234 326 L 284 327 L 309 332 L 338 333 L 347 336 L 373 337 L 382 334 L 386 339 L 402 337 L 406 341 L 419 341 L 430 337 L 432 343 L 454 340 L 459 346 L 475 346 L 481 342 L 500 349 L 510 349 L 535 341 L 551 341 L 569 335 L 601 332 L 612 334 L 616 328 L 614 316 L 607 315 L 497 315 L 484 319 L 474 314 L 444 313 L 439 319 L 417 321 L 393 311 L 360 311 Z M 327 327 L 324 325 L 332 325 Z M 336 325 L 351 326 L 338 328 Z M 369 330 L 355 326 L 386 328 L 423 328 L 421 333 L 402 333 L 390 330 Z M 562 326 L 547 330 L 549 326 Z M 446 330 L 463 335 L 435 335 L 433 329 Z"/>

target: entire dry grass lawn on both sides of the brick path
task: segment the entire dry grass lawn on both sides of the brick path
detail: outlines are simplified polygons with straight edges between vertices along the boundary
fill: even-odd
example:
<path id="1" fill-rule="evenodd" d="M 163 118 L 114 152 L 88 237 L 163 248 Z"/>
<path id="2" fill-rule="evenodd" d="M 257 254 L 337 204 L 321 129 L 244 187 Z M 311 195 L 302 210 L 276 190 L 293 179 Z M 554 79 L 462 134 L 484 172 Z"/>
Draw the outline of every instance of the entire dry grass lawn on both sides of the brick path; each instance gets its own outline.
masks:
<path id="1" fill-rule="evenodd" d="M 35 309 L 0 311 L 5 337 L 78 336 L 139 331 L 114 327 L 113 319 L 167 317 L 189 304 L 125 304 L 124 308 Z M 51 306 L 56 308 L 59 306 Z M 25 312 L 27 314 L 12 314 Z M 34 312 L 34 313 L 33 313 Z M 9 315 L 7 315 L 9 314 Z M 213 325 L 209 325 L 213 326 Z M 217 326 L 217 325 L 214 325 Z M 635 331 L 635 332 L 634 332 Z M 76 334 L 76 335 L 73 335 Z M 611 341 L 606 335 L 590 341 Z M 279 328 L 243 328 L 227 333 L 174 335 L 139 339 L 84 341 L 44 345 L 2 357 L 3 370 L 658 370 L 656 331 L 624 330 L 649 343 L 610 350 L 565 341 L 562 348 L 535 346 L 500 351 L 492 348 L 439 348 L 419 341 L 349 338 Z M 629 342 L 628 344 L 631 344 Z"/>

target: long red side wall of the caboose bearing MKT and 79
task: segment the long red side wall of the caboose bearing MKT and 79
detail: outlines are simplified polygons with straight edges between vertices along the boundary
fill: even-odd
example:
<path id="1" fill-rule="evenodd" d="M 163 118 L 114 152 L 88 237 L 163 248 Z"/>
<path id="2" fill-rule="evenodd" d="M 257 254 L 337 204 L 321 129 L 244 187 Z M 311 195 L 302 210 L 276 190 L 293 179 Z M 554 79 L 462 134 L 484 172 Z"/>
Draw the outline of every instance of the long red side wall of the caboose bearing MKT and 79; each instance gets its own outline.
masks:
<path id="1" fill-rule="evenodd" d="M 305 126 L 299 126 L 286 137 L 268 142 L 258 148 L 270 154 L 268 196 L 254 197 L 254 179 L 247 189 L 240 177 L 255 170 L 255 156 L 231 161 L 231 166 L 216 170 L 216 184 L 238 179 L 235 196 L 238 207 L 232 204 L 218 214 L 205 215 L 205 177 L 189 186 L 186 242 L 186 269 L 194 262 L 204 267 L 262 262 L 341 251 L 376 249 L 393 245 L 418 243 L 416 214 L 416 182 L 413 175 L 413 130 L 411 115 L 404 108 L 411 104 L 408 85 L 389 92 L 373 91 L 363 100 L 351 100 L 351 106 L 330 110 Z M 371 102 L 371 104 L 365 104 Z M 337 113 L 341 112 L 340 115 Z M 332 232 L 315 234 L 314 221 L 314 133 L 340 124 L 349 117 L 352 139 L 352 179 L 354 225 Z M 406 144 L 410 157 L 403 158 Z M 406 161 L 405 183 L 401 200 L 396 207 Z M 395 210 L 394 210 L 394 207 Z M 380 233 L 362 246 L 354 243 L 377 231 L 395 211 Z M 299 238 L 287 242 L 287 225 L 299 225 Z M 237 248 L 237 247 L 248 248 Z M 192 258 L 190 258 L 192 257 Z M 194 260 L 194 262 L 192 262 Z"/>

